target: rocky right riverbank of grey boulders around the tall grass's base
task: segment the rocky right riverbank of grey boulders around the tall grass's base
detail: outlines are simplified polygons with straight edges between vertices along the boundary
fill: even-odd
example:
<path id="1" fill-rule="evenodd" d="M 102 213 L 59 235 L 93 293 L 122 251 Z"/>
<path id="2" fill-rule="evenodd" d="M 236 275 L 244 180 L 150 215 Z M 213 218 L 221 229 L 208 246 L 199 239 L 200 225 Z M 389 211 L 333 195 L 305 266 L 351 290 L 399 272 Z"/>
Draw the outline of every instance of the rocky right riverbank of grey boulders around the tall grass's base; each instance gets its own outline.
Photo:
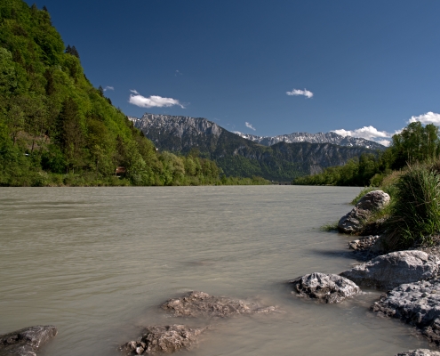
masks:
<path id="1" fill-rule="evenodd" d="M 341 232 L 361 231 L 361 225 L 374 210 L 388 204 L 389 196 L 374 190 L 359 200 L 340 219 Z M 372 203 L 372 204 L 370 204 Z M 371 311 L 378 316 L 397 318 L 420 331 L 429 343 L 440 346 L 440 236 L 431 243 L 414 244 L 412 249 L 386 253 L 385 236 L 364 236 L 348 242 L 361 260 L 341 276 L 366 288 L 386 291 L 373 303 Z M 398 355 L 440 355 L 440 352 L 413 350 Z"/>

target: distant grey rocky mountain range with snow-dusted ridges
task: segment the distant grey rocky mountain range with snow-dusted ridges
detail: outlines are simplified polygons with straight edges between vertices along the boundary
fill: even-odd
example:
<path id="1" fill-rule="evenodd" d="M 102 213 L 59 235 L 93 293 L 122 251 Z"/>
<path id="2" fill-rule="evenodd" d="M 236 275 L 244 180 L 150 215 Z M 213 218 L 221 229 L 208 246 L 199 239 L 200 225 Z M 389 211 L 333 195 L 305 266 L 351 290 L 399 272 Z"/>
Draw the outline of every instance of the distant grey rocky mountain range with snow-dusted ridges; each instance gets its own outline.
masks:
<path id="1" fill-rule="evenodd" d="M 201 156 L 215 160 L 227 175 L 258 175 L 277 182 L 291 182 L 295 177 L 342 166 L 350 158 L 384 149 L 376 142 L 335 133 L 276 137 L 235 134 L 202 117 L 146 113 L 129 119 L 160 150 L 186 154 L 197 149 Z"/>

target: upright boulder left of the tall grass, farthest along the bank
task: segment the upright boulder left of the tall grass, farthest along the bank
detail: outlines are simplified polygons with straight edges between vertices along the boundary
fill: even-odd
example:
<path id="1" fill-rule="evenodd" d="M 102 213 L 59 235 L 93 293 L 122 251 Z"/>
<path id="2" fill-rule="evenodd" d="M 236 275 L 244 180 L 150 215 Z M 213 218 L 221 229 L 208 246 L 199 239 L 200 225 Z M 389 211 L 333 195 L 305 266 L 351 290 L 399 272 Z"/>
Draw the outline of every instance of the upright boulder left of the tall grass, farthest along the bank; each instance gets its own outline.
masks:
<path id="1" fill-rule="evenodd" d="M 356 233 L 363 229 L 363 223 L 374 210 L 382 209 L 389 203 L 389 195 L 382 190 L 372 190 L 360 198 L 356 206 L 340 218 L 338 229 L 344 233 Z"/>

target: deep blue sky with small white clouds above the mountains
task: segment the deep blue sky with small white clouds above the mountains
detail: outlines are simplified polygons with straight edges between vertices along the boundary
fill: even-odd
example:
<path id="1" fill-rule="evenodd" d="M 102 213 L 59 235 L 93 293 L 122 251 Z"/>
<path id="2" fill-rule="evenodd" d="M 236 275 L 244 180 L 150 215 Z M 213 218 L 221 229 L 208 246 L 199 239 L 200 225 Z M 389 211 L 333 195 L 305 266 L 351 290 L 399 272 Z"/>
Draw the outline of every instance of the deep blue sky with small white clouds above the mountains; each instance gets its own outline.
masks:
<path id="1" fill-rule="evenodd" d="M 129 116 L 206 117 L 258 135 L 340 130 L 376 141 L 411 118 L 440 125 L 436 0 L 36 4 L 76 46 L 92 84 L 107 87 Z"/>

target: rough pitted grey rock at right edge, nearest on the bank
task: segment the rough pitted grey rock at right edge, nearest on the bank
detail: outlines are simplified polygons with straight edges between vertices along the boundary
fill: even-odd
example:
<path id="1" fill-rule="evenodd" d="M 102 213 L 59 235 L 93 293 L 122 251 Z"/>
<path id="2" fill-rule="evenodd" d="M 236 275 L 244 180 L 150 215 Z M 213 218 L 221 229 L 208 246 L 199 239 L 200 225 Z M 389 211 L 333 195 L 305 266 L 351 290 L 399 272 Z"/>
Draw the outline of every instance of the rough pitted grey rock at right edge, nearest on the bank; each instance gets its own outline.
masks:
<path id="1" fill-rule="evenodd" d="M 440 344 L 440 279 L 396 287 L 381 295 L 371 310 L 404 320 L 420 328 L 429 341 Z"/>

